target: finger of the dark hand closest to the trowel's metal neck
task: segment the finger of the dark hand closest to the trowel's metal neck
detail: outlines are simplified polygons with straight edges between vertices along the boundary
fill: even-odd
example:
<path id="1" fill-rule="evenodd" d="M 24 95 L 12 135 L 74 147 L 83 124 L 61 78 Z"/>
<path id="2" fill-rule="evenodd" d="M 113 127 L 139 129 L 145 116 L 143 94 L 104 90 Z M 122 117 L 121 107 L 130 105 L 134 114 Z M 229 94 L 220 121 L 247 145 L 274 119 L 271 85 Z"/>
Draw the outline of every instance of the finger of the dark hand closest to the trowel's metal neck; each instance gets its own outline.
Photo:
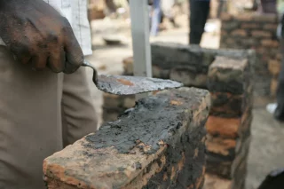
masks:
<path id="1" fill-rule="evenodd" d="M 83 51 L 71 28 L 66 31 L 64 50 L 66 53 L 66 65 L 63 72 L 71 74 L 83 64 Z"/>

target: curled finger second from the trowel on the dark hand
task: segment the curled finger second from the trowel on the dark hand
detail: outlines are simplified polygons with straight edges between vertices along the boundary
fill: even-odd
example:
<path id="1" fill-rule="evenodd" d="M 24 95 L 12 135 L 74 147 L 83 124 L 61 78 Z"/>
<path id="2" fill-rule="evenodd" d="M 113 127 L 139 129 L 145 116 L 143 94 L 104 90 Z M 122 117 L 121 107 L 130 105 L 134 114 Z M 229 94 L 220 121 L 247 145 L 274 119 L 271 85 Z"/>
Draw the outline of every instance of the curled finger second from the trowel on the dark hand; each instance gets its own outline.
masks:
<path id="1" fill-rule="evenodd" d="M 63 72 L 65 69 L 65 63 L 66 58 L 63 48 L 56 51 L 53 50 L 50 57 L 47 59 L 47 67 L 50 67 L 51 71 L 55 73 Z"/>

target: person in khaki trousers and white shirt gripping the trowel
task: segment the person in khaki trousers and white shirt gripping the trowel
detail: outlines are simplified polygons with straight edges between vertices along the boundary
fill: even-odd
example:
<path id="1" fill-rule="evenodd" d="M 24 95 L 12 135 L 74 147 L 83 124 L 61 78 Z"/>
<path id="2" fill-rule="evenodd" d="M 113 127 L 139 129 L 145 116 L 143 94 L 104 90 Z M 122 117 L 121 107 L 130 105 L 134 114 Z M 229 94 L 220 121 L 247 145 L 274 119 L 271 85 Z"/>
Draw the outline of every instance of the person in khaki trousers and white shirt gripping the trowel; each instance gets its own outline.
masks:
<path id="1" fill-rule="evenodd" d="M 87 0 L 0 0 L 0 38 L 0 188 L 43 189 L 43 159 L 97 129 Z"/>

